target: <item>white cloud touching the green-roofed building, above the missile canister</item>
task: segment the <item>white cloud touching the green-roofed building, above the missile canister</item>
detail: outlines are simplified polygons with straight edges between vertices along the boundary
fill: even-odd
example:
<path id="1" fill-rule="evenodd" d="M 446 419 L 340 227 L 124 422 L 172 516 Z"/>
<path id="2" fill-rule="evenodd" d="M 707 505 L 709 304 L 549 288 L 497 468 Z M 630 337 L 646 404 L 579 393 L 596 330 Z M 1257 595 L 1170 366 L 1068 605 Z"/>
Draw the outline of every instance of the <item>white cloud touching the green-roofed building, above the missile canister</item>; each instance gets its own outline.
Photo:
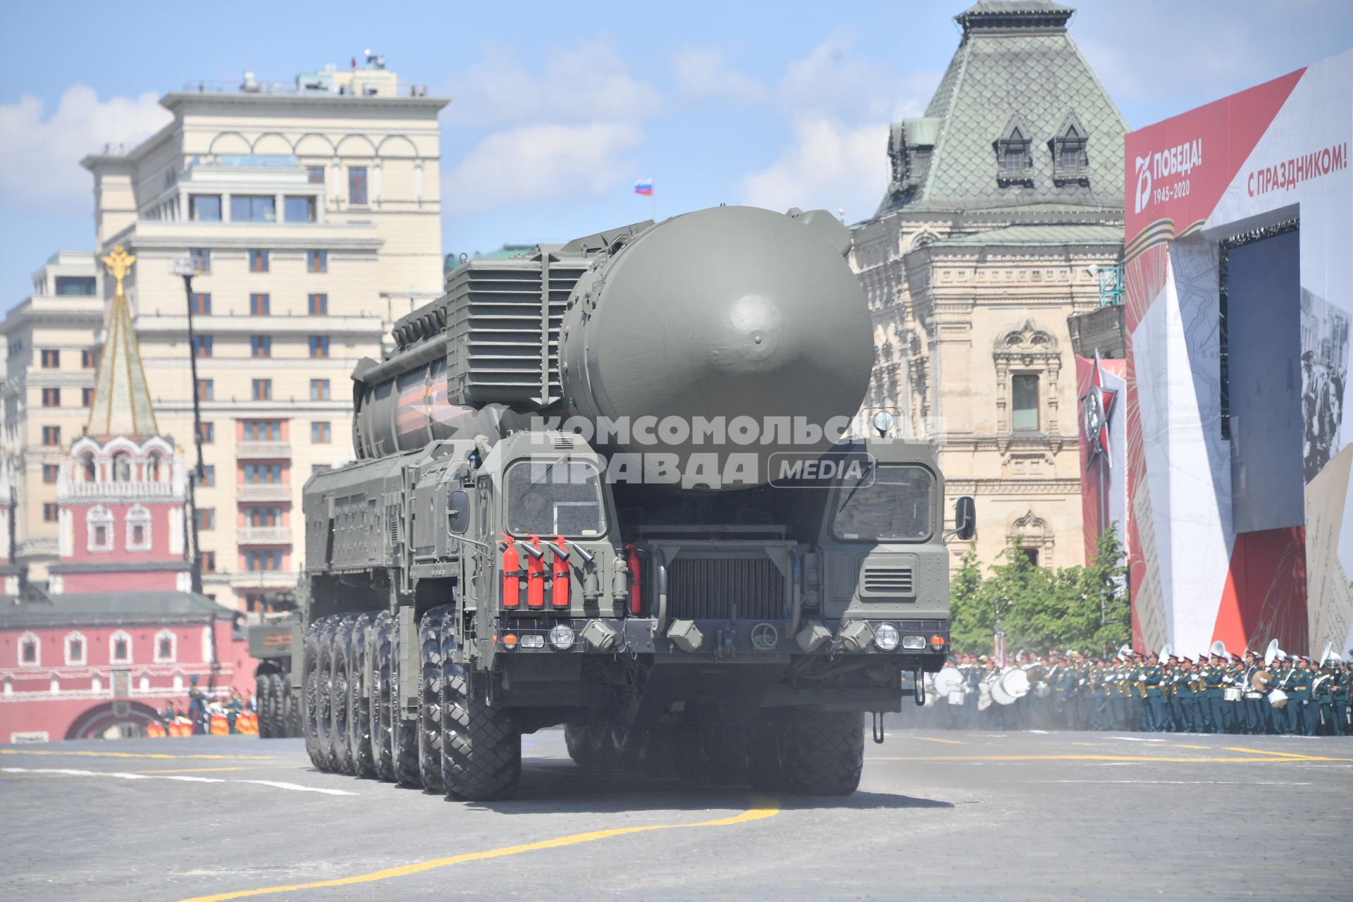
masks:
<path id="1" fill-rule="evenodd" d="M 770 210 L 844 210 L 846 222 L 871 215 L 888 185 L 888 124 L 844 126 L 805 116 L 793 130 L 793 141 L 775 162 L 739 183 L 746 203 Z"/>

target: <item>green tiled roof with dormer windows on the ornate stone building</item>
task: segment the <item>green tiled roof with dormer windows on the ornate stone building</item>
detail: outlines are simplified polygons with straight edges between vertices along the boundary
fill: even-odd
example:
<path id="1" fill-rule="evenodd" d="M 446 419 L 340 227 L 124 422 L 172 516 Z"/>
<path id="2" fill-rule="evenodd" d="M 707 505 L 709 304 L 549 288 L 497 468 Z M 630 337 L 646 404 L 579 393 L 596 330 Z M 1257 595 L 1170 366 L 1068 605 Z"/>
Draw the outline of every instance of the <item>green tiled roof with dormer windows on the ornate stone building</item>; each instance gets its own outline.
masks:
<path id="1" fill-rule="evenodd" d="M 878 215 L 1034 204 L 1123 207 L 1127 123 L 1066 34 L 1072 12 L 1047 0 L 980 0 L 955 16 L 963 38 L 925 116 L 893 126 L 894 154 L 897 145 L 915 150 L 934 141 L 930 158 L 912 161 L 912 170 L 889 187 Z M 1049 142 L 1072 122 L 1086 137 L 1088 184 L 1054 184 Z M 1030 185 L 997 183 L 996 142 L 1012 126 L 1030 141 Z"/>

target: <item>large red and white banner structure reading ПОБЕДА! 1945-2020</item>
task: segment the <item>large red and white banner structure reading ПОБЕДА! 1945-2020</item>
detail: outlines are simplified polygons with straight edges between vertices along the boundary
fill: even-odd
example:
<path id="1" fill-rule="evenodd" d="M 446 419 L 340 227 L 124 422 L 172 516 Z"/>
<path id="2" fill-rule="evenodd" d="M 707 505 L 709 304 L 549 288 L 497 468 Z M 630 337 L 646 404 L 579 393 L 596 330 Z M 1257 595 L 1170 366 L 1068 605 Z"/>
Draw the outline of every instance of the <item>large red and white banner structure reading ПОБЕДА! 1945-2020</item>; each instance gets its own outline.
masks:
<path id="1" fill-rule="evenodd" d="M 1353 53 L 1127 135 L 1134 642 L 1353 649 Z"/>

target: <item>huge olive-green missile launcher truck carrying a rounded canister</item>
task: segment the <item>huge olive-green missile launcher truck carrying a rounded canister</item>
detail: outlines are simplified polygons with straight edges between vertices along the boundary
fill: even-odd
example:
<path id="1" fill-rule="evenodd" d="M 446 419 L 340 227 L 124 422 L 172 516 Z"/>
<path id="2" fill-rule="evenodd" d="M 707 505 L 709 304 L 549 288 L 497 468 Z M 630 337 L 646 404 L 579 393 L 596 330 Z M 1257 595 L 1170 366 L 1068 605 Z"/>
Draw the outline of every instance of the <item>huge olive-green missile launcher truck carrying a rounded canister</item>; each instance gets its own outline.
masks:
<path id="1" fill-rule="evenodd" d="M 844 434 L 848 246 L 717 207 L 463 262 L 400 319 L 304 488 L 314 764 L 501 799 L 563 725 L 583 767 L 855 791 L 865 714 L 944 661 L 948 552 L 934 450 Z"/>

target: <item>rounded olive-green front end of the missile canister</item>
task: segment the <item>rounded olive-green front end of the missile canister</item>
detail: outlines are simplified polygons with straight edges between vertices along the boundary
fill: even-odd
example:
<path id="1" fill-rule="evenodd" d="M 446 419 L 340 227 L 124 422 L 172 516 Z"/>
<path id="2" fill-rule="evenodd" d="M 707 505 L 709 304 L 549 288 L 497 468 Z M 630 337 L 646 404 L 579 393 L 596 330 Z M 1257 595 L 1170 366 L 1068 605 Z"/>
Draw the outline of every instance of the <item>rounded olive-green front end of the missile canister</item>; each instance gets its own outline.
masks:
<path id="1" fill-rule="evenodd" d="M 750 417 L 760 426 L 754 444 L 630 442 L 616 450 L 683 461 L 701 452 L 754 453 L 756 481 L 764 481 L 770 454 L 827 448 L 773 441 L 770 423 L 798 418 L 821 427 L 854 417 L 863 400 L 869 308 L 820 227 L 754 207 L 701 210 L 641 233 L 589 276 L 563 329 L 570 412 L 687 425 Z"/>

